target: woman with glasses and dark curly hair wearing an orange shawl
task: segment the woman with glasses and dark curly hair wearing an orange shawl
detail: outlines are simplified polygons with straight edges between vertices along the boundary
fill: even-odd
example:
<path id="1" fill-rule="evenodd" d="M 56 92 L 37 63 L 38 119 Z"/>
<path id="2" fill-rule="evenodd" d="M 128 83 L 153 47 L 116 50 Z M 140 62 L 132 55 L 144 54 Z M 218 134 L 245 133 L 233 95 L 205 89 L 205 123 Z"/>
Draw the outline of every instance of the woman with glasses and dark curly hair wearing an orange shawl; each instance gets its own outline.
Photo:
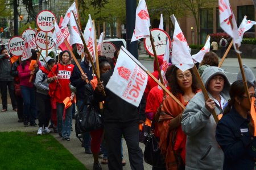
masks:
<path id="1" fill-rule="evenodd" d="M 175 65 L 167 69 L 166 79 L 170 85 L 171 93 L 184 106 L 199 91 L 195 78 L 191 69 L 182 72 Z M 182 112 L 182 107 L 170 96 L 164 99 L 158 128 L 160 132 L 159 147 L 166 158 L 167 169 L 185 168 L 186 135 L 181 129 Z"/>

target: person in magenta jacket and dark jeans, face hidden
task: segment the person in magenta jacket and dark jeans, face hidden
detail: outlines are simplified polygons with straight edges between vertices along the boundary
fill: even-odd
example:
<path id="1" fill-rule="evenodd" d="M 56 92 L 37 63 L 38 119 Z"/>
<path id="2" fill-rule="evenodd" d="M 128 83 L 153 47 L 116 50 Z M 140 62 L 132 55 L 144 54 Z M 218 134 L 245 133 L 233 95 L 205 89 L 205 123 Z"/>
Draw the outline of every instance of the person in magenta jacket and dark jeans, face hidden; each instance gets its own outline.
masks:
<path id="1" fill-rule="evenodd" d="M 31 75 L 35 75 L 36 70 L 33 68 L 41 67 L 41 64 L 31 65 L 31 60 L 36 59 L 36 51 L 31 49 L 32 56 L 30 58 L 22 57 L 22 63 L 18 67 L 20 90 L 23 97 L 23 115 L 24 115 L 24 126 L 37 126 L 35 123 L 36 119 L 36 98 L 35 98 L 35 88 L 33 81 L 30 80 Z M 32 67 L 32 68 L 31 68 Z M 38 71 L 38 69 L 37 69 Z"/>

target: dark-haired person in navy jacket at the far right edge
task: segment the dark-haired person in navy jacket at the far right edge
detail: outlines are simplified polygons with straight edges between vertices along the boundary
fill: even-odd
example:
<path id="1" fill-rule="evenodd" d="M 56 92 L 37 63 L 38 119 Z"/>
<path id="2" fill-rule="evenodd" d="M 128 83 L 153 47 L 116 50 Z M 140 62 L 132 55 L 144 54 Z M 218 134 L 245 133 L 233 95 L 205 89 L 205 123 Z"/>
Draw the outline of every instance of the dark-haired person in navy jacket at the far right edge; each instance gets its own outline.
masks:
<path id="1" fill-rule="evenodd" d="M 254 97 L 254 85 L 247 81 L 249 95 Z M 216 128 L 216 140 L 224 152 L 223 169 L 254 169 L 256 138 L 242 80 L 230 87 L 230 100 Z"/>

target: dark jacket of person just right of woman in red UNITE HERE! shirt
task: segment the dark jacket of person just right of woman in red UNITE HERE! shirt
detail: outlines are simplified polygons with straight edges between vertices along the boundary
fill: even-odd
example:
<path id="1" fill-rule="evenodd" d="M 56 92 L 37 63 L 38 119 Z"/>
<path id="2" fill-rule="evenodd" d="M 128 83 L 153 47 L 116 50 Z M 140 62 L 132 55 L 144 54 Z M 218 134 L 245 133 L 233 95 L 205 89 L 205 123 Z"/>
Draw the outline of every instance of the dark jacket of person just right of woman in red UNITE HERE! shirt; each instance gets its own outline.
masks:
<path id="1" fill-rule="evenodd" d="M 82 71 L 86 73 L 86 76 L 88 77 L 88 80 L 92 80 L 92 68 L 89 67 L 89 64 L 85 61 L 82 61 L 80 63 Z M 77 65 L 75 65 L 73 72 L 70 77 L 70 82 L 73 86 L 76 87 L 76 98 L 77 100 L 83 101 L 85 99 L 84 91 L 85 91 L 85 85 L 86 81 L 82 80 L 81 78 L 81 72 L 79 71 L 79 68 Z"/>

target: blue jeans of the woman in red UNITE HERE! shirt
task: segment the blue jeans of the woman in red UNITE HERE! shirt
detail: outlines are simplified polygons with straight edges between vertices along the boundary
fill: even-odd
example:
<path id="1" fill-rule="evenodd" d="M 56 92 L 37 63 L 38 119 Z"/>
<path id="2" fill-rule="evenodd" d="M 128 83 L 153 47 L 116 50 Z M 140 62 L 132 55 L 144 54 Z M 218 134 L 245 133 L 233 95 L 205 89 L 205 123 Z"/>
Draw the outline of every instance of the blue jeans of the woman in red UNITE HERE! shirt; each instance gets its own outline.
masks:
<path id="1" fill-rule="evenodd" d="M 57 129 L 63 138 L 69 138 L 72 121 L 72 107 L 66 109 L 65 121 L 63 119 L 64 103 L 57 103 Z"/>

